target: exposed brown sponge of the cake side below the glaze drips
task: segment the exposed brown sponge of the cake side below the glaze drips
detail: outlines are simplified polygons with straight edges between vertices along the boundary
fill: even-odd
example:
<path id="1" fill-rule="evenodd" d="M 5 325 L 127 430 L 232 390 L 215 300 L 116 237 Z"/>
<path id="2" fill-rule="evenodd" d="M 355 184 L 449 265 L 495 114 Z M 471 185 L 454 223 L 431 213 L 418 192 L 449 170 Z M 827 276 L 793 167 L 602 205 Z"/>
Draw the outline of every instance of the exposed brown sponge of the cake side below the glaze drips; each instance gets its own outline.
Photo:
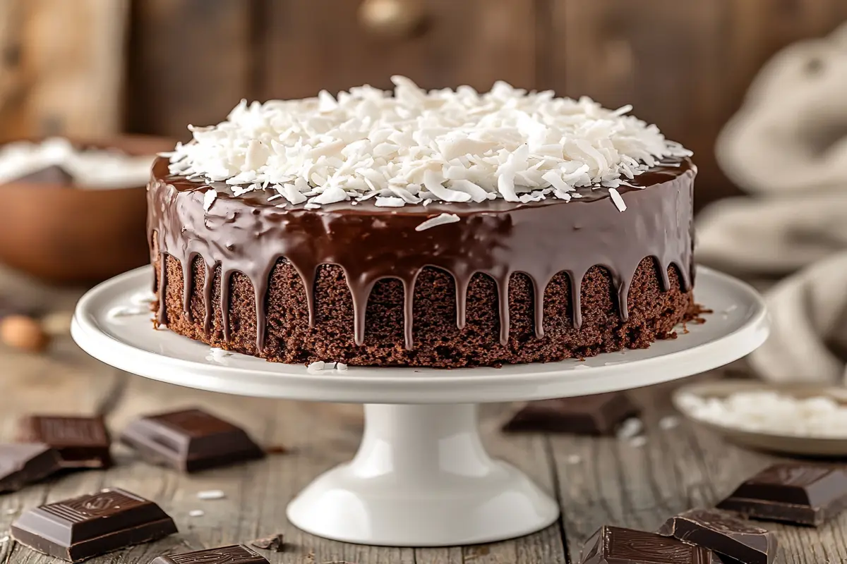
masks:
<path id="1" fill-rule="evenodd" d="M 353 306 L 339 266 L 321 266 L 315 281 L 316 323 L 308 326 L 306 291 L 291 263 L 280 260 L 268 284 L 268 326 L 263 350 L 256 348 L 256 306 L 253 287 L 241 273 L 230 282 L 230 341 L 224 341 L 221 310 L 214 307 L 211 331 L 203 330 L 202 259 L 194 261 L 190 313 L 182 309 L 183 277 L 179 261 L 167 258 L 165 306 L 171 331 L 207 342 L 213 347 L 253 354 L 284 363 L 317 360 L 363 366 L 493 366 L 583 358 L 623 348 L 645 348 L 658 338 L 673 337 L 673 327 L 684 320 L 692 304 L 671 267 L 672 288 L 662 292 L 653 260 L 645 259 L 629 291 L 629 319 L 617 309 L 612 278 L 600 267 L 584 277 L 583 325 L 571 321 L 572 306 L 567 275 L 553 278 L 545 290 L 545 337 L 534 334 L 534 296 L 529 279 L 515 274 L 509 283 L 511 326 L 504 346 L 499 338 L 495 282 L 478 274 L 468 284 L 468 319 L 456 325 L 456 289 L 453 278 L 435 268 L 418 277 L 413 301 L 415 320 L 412 350 L 403 345 L 403 287 L 397 280 L 377 282 L 365 314 L 365 342 L 353 339 Z M 220 267 L 213 275 L 212 303 L 220 303 Z"/>

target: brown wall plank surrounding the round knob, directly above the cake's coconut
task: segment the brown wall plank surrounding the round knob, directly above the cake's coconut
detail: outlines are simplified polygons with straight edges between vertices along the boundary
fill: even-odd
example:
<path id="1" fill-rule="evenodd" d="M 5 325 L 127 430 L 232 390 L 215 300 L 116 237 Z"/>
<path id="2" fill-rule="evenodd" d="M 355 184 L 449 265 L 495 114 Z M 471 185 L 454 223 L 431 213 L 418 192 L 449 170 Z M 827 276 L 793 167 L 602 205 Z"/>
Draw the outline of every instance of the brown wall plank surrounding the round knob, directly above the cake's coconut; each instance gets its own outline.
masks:
<path id="1" fill-rule="evenodd" d="M 418 34 L 385 39 L 359 18 L 359 2 L 268 3 L 262 97 L 314 96 L 407 74 L 424 88 L 497 79 L 534 86 L 534 0 L 428 0 Z"/>

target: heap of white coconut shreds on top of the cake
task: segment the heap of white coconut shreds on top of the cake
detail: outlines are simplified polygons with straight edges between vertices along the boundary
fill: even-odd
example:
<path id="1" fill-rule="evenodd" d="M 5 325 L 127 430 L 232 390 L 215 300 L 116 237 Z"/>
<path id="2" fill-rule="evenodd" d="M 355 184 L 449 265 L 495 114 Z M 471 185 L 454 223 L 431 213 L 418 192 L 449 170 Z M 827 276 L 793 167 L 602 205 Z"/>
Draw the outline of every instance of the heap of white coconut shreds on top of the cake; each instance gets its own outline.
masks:
<path id="1" fill-rule="evenodd" d="M 394 207 L 570 200 L 579 187 L 614 198 L 627 179 L 691 155 L 626 115 L 631 107 L 609 110 L 504 82 L 479 94 L 392 81 L 393 92 L 366 85 L 338 96 L 241 101 L 222 123 L 190 126 L 193 139 L 163 155 L 173 174 L 225 181 L 236 195 L 271 189 L 308 209 L 373 197 Z"/>

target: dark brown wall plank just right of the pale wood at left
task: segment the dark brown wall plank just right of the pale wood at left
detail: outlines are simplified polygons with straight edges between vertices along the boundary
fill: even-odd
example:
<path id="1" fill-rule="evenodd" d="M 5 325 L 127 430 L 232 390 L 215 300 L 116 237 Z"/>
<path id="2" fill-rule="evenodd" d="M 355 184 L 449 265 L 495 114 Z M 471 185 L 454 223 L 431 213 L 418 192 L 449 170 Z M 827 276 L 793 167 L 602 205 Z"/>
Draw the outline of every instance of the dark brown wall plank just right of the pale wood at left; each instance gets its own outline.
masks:
<path id="1" fill-rule="evenodd" d="M 252 3 L 144 0 L 132 6 L 130 131 L 185 139 L 252 96 Z"/>

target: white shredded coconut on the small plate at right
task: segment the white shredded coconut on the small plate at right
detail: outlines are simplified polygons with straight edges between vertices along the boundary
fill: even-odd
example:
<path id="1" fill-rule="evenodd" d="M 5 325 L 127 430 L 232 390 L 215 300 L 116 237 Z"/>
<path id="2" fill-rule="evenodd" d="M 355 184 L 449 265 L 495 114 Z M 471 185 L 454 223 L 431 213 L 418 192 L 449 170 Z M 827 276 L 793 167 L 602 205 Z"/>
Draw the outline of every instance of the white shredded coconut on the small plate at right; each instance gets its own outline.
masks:
<path id="1" fill-rule="evenodd" d="M 847 438 L 847 405 L 832 397 L 798 398 L 780 392 L 735 392 L 728 397 L 684 394 L 680 406 L 694 419 L 754 433 Z"/>

